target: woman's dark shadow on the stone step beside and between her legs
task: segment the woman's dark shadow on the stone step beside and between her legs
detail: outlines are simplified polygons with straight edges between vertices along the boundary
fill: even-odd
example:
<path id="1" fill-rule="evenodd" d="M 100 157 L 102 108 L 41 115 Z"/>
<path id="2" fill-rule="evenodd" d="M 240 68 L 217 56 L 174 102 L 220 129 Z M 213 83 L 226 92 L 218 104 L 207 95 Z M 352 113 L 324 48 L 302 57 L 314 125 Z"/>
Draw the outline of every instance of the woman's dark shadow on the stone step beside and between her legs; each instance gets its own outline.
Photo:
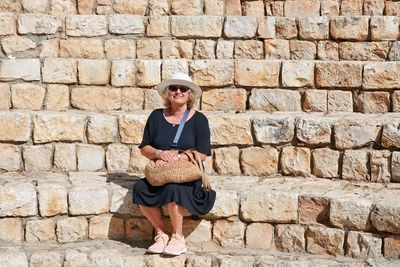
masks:
<path id="1" fill-rule="evenodd" d="M 117 240 L 133 247 L 147 248 L 154 238 L 154 229 L 141 214 L 133 201 L 133 187 L 142 177 L 127 173 L 107 174 L 107 182 L 111 190 L 111 216 L 108 221 L 108 233 L 103 238 Z M 167 231 L 172 232 L 171 222 L 166 208 L 162 208 Z M 201 223 L 201 219 L 185 212 L 183 234 L 188 237 Z"/>

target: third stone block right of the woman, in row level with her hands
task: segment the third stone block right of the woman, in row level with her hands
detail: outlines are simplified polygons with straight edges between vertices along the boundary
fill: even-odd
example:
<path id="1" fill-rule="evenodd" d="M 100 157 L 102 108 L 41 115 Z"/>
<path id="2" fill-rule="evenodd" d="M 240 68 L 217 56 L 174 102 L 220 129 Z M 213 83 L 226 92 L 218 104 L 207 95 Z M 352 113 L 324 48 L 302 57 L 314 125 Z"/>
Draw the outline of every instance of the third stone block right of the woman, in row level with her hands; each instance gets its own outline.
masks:
<path id="1" fill-rule="evenodd" d="M 287 175 L 308 176 L 311 173 L 311 152 L 308 148 L 284 147 L 281 154 L 281 170 Z"/>

